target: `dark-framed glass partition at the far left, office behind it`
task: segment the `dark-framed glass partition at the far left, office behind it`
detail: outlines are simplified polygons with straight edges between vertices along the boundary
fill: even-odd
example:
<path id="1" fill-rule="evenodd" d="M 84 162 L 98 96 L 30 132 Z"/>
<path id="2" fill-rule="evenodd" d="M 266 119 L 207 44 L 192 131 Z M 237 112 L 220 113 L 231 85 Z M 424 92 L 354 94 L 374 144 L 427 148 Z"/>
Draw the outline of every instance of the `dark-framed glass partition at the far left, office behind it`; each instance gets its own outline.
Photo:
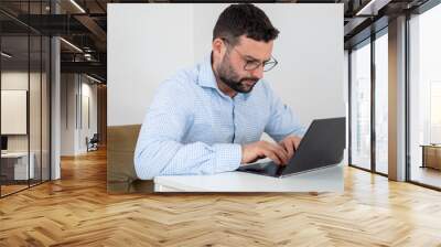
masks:
<path id="1" fill-rule="evenodd" d="M 0 12 L 1 197 L 50 179 L 50 37 L 18 21 L 47 14 L 49 3 L 0 2 L 18 11 Z"/>

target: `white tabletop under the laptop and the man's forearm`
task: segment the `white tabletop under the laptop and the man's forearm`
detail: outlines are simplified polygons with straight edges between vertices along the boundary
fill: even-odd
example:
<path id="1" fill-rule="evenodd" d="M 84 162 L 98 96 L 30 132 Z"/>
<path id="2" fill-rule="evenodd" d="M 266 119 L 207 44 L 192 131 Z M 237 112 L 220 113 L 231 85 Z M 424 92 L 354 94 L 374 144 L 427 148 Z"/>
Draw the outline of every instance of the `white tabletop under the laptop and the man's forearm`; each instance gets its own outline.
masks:
<path id="1" fill-rule="evenodd" d="M 245 172 L 170 175 L 153 180 L 154 192 L 343 192 L 343 163 L 283 179 Z"/>

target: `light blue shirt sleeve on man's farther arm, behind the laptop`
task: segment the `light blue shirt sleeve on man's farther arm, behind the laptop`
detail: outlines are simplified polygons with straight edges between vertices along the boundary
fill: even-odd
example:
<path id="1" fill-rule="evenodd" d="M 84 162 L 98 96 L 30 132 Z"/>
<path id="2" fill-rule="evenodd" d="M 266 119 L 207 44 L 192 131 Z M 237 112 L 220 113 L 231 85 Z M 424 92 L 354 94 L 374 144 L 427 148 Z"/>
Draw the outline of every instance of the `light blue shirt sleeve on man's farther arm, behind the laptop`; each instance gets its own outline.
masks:
<path id="1" fill-rule="evenodd" d="M 292 109 L 283 104 L 268 85 L 267 96 L 270 105 L 270 117 L 265 126 L 265 132 L 277 142 L 291 135 L 303 137 L 306 129 L 300 124 Z"/>

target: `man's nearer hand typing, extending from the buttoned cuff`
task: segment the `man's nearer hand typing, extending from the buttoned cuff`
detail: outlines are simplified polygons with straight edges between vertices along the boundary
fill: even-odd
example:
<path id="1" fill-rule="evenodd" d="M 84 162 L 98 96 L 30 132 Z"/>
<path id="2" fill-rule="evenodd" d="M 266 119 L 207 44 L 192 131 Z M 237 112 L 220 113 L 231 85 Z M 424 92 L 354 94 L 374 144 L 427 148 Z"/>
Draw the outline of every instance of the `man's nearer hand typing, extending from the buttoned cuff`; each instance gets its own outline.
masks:
<path id="1" fill-rule="evenodd" d="M 281 165 L 287 164 L 289 161 L 288 152 L 277 143 L 258 141 L 241 148 L 241 163 L 252 163 L 265 157 Z"/>

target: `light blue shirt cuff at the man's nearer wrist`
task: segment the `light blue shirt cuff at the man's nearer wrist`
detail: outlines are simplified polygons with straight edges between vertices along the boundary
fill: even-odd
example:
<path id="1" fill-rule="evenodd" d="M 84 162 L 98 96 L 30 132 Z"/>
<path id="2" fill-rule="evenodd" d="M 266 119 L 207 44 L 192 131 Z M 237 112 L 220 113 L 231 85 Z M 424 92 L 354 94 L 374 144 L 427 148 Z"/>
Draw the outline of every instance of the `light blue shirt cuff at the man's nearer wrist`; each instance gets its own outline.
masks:
<path id="1" fill-rule="evenodd" d="M 215 172 L 235 171 L 241 161 L 241 146 L 233 143 L 218 143 L 213 146 L 216 150 Z"/>

